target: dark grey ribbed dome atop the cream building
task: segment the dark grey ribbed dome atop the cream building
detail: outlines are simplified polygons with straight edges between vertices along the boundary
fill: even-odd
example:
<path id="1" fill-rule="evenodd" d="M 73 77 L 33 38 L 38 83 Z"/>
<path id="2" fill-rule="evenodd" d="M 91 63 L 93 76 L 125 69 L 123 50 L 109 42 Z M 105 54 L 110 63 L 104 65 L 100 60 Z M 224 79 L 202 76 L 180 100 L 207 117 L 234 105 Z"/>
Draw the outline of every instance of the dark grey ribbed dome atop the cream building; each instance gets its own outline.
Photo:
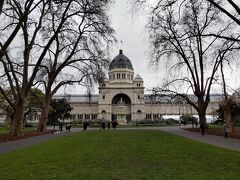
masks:
<path id="1" fill-rule="evenodd" d="M 126 68 L 133 70 L 132 63 L 127 56 L 123 54 L 122 50 L 119 50 L 119 55 L 117 55 L 110 63 L 109 70 Z"/>

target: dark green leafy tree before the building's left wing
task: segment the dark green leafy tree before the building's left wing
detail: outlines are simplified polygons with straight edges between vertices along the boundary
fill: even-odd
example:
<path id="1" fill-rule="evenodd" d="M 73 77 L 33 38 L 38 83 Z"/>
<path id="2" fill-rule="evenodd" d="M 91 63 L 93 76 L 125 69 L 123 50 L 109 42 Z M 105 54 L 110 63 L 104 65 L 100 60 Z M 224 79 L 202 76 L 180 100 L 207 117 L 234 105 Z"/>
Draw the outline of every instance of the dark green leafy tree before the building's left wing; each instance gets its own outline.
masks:
<path id="1" fill-rule="evenodd" d="M 52 99 L 50 103 L 50 111 L 48 114 L 48 123 L 55 124 L 58 119 L 70 118 L 70 112 L 72 107 L 65 98 L 63 99 Z"/>

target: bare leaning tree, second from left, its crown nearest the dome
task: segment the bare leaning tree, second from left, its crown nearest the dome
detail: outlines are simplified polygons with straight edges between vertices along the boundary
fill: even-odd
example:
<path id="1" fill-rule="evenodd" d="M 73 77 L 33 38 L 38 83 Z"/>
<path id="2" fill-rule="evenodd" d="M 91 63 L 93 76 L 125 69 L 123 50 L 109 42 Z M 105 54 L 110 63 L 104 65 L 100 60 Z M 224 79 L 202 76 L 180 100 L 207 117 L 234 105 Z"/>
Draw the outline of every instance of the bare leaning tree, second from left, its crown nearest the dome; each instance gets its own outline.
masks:
<path id="1" fill-rule="evenodd" d="M 40 131 L 46 130 L 50 101 L 59 88 L 74 83 L 85 85 L 86 79 L 93 79 L 96 72 L 106 67 L 106 48 L 114 40 L 107 6 L 107 1 L 79 2 L 72 10 L 76 17 L 64 26 L 49 48 L 38 77 L 45 89 Z M 55 32 L 58 16 L 57 11 L 51 14 L 52 26 L 46 29 L 47 32 Z"/>

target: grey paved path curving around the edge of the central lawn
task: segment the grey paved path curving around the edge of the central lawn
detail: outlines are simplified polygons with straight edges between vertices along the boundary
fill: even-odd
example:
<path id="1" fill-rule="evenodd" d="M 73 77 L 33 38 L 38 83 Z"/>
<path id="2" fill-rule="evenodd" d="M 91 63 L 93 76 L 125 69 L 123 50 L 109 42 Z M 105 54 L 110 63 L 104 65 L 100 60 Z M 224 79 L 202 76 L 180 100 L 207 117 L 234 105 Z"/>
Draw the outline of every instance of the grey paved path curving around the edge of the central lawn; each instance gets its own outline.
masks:
<path id="1" fill-rule="evenodd" d="M 207 144 L 212 144 L 215 146 L 235 150 L 240 152 L 240 140 L 239 139 L 232 139 L 232 138 L 224 138 L 221 136 L 215 136 L 206 134 L 205 136 L 202 136 L 200 133 L 196 132 L 190 132 L 181 129 L 179 126 L 174 127 L 138 127 L 138 128 L 118 128 L 117 130 L 161 130 L 164 132 L 169 132 L 172 134 L 184 136 L 193 140 L 201 141 Z M 89 130 L 99 130 L 99 128 L 90 128 Z M 73 132 L 79 132 L 82 131 L 82 129 L 79 128 L 72 128 L 71 133 Z M 31 138 L 21 139 L 17 141 L 9 141 L 0 143 L 0 154 L 11 152 L 23 147 L 28 147 L 33 144 L 39 144 L 41 142 L 45 142 L 51 139 L 56 139 L 62 136 L 66 136 L 71 134 L 69 132 L 62 132 L 60 134 L 46 134 L 41 136 L 34 136 Z"/>

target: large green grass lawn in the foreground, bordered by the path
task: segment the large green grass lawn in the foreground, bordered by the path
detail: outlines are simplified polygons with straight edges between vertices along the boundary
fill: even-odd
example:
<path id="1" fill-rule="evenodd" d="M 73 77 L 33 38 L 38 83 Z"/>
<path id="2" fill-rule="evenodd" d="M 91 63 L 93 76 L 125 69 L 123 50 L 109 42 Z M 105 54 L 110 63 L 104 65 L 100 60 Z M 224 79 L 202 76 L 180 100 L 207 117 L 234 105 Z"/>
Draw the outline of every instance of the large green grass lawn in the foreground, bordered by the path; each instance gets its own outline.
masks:
<path id="1" fill-rule="evenodd" d="M 73 133 L 0 155 L 0 179 L 229 179 L 240 153 L 150 130 Z"/>

